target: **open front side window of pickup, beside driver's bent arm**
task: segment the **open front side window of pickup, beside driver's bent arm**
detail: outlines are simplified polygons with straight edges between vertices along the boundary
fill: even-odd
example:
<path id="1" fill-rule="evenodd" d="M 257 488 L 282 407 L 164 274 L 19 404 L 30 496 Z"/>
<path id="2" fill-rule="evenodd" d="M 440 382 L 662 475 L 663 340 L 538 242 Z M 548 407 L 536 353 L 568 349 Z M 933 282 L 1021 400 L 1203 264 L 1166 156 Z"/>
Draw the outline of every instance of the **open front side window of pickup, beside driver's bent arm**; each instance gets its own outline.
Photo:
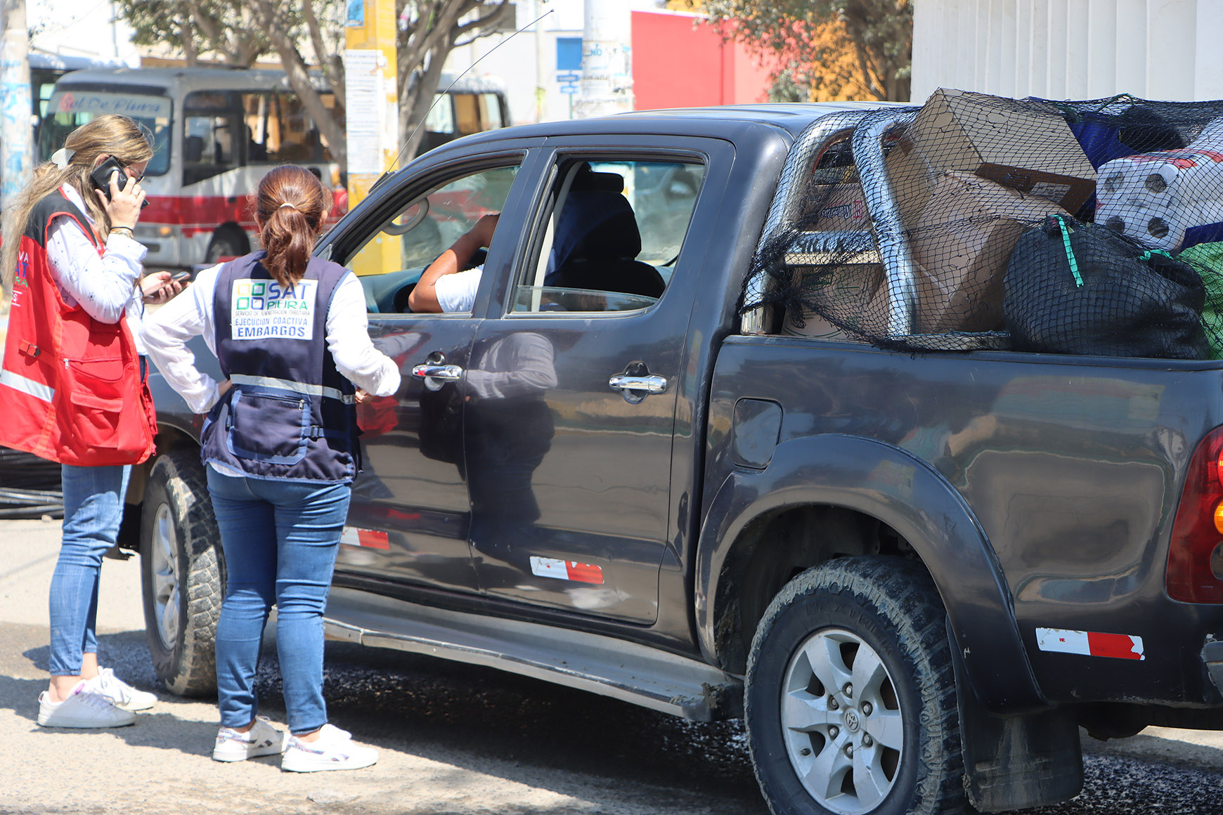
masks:
<path id="1" fill-rule="evenodd" d="M 361 277 L 369 312 L 407 312 L 407 296 L 421 272 L 481 217 L 501 211 L 517 171 L 517 164 L 468 170 L 423 191 L 405 191 L 394 215 L 345 264 Z M 399 243 L 397 263 L 390 268 L 383 249 L 386 241 Z M 482 264 L 478 253 L 470 268 Z"/>

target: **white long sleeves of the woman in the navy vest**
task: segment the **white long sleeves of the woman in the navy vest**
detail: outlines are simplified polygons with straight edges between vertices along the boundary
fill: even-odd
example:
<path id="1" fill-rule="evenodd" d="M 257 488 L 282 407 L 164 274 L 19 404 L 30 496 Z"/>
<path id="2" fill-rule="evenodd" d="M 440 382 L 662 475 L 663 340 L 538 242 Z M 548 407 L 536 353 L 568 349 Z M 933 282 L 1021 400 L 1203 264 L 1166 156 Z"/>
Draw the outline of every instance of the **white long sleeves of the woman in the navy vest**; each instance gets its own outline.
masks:
<path id="1" fill-rule="evenodd" d="M 219 274 L 220 265 L 201 271 L 187 291 L 144 320 L 144 346 L 149 358 L 196 413 L 207 413 L 220 398 L 218 382 L 196 368 L 194 354 L 187 349 L 187 341 L 202 334 L 209 351 L 216 353 L 213 307 Z M 364 290 L 351 271 L 331 296 L 327 312 L 327 347 L 336 369 L 357 387 L 374 396 L 390 396 L 399 390 L 399 367 L 369 341 Z"/>

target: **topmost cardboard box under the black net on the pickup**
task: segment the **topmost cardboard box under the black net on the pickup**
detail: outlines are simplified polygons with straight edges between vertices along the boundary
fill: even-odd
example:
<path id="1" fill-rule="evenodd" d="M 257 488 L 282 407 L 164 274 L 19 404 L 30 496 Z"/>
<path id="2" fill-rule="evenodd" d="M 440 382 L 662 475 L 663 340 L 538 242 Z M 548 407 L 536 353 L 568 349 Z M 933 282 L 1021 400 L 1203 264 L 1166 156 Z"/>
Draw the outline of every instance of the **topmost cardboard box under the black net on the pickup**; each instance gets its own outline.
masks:
<path id="1" fill-rule="evenodd" d="M 1069 213 L 1096 189 L 1096 170 L 1052 105 L 947 88 L 926 100 L 887 165 L 907 228 L 942 172 L 976 174 Z"/>

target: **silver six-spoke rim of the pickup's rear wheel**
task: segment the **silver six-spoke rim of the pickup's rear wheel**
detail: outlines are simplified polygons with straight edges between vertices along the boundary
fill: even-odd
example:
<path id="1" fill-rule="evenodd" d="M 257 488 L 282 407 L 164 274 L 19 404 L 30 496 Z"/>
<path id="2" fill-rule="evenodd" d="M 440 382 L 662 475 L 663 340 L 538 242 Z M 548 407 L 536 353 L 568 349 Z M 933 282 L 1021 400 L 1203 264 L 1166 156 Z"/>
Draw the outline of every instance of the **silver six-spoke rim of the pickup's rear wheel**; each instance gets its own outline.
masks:
<path id="1" fill-rule="evenodd" d="M 874 649 L 839 628 L 804 640 L 785 668 L 781 737 L 821 806 L 841 815 L 878 806 L 900 767 L 904 723 Z"/>

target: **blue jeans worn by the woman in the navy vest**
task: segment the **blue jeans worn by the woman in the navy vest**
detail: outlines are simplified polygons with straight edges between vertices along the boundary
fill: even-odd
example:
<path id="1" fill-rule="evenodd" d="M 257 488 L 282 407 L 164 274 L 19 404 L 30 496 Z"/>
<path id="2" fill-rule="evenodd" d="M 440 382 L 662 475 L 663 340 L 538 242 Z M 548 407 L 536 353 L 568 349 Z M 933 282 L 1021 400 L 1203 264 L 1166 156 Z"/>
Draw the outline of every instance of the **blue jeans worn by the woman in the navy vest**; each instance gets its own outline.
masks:
<path id="1" fill-rule="evenodd" d="M 327 723 L 323 611 L 351 486 L 241 478 L 207 469 L 226 569 L 216 623 L 221 725 L 245 727 L 254 720 L 254 672 L 263 627 L 275 604 L 289 729 L 296 734 L 316 731 Z"/>

